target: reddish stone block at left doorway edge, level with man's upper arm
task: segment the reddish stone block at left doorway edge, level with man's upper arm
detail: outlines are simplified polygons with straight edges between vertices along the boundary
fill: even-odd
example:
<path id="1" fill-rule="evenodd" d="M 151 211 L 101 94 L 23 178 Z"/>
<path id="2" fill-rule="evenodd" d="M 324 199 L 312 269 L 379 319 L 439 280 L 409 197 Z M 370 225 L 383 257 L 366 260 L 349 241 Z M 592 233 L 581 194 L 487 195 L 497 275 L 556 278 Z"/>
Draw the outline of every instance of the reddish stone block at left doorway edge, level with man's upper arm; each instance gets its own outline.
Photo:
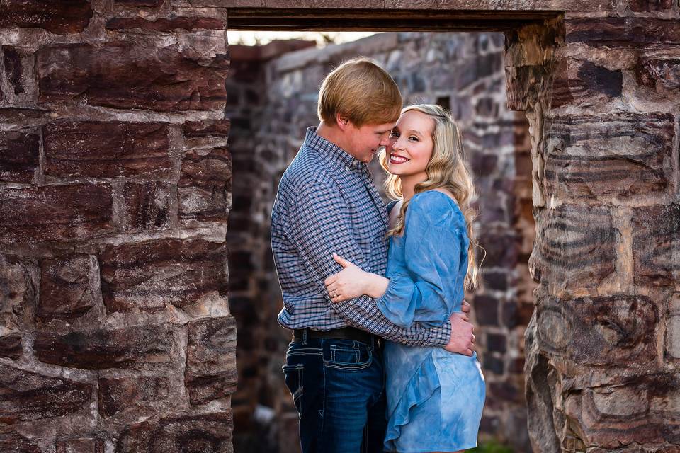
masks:
<path id="1" fill-rule="evenodd" d="M 232 158 L 226 148 L 188 151 L 178 185 L 179 218 L 226 221 Z"/>

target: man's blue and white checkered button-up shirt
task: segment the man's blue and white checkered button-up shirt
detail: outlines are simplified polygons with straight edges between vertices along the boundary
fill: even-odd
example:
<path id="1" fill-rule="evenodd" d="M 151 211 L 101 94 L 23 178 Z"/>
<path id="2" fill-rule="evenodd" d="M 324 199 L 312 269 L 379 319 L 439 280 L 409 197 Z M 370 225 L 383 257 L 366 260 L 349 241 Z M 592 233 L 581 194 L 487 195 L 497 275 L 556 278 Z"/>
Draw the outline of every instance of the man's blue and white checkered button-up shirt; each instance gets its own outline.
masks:
<path id="1" fill-rule="evenodd" d="M 372 298 L 334 304 L 324 280 L 341 270 L 332 256 L 385 275 L 387 209 L 363 162 L 314 127 L 283 173 L 271 213 L 271 248 L 283 290 L 281 326 L 327 331 L 354 326 L 414 346 L 448 343 L 450 323 L 427 329 L 391 323 Z"/>

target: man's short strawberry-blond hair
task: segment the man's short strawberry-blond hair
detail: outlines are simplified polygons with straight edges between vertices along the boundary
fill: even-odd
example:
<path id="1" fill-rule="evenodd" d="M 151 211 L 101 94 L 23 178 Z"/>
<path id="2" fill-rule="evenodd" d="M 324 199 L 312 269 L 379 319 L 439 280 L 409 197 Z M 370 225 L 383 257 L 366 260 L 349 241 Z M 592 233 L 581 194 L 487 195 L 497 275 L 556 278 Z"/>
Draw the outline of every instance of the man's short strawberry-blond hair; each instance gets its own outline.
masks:
<path id="1" fill-rule="evenodd" d="M 356 127 L 396 122 L 402 95 L 390 74 L 370 58 L 355 58 L 336 67 L 319 91 L 319 120 L 335 125 L 337 114 Z"/>

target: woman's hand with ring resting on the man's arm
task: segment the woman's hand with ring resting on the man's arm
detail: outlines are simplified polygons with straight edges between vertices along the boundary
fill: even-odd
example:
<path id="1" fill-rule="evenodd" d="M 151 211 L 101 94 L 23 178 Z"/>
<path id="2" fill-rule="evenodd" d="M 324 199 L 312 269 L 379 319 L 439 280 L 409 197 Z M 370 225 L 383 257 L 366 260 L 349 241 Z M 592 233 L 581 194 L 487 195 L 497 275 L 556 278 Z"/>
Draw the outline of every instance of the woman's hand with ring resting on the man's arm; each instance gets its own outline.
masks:
<path id="1" fill-rule="evenodd" d="M 343 268 L 339 273 L 333 274 L 324 280 L 324 285 L 326 285 L 328 294 L 330 294 L 333 302 L 354 299 L 362 294 L 378 297 L 385 292 L 387 282 L 389 282 L 385 277 L 364 272 L 335 253 L 333 253 L 333 258 Z M 385 280 L 384 287 L 382 287 L 383 282 L 381 280 Z M 378 296 L 373 296 L 371 293 L 375 292 L 375 290 L 380 291 L 380 287 L 382 287 L 382 292 Z"/>

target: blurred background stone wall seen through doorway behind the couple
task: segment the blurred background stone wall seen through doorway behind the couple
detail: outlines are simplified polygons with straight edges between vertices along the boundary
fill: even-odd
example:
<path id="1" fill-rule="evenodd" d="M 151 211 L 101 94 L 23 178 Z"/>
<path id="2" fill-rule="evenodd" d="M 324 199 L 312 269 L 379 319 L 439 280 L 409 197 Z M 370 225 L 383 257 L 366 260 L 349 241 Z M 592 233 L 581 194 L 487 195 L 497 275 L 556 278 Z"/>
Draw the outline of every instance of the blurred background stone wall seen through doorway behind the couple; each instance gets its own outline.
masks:
<path id="1" fill-rule="evenodd" d="M 280 371 L 290 334 L 276 323 L 282 302 L 269 247 L 269 214 L 280 175 L 299 149 L 306 127 L 319 122 L 322 79 L 358 55 L 373 57 L 390 71 L 405 103 L 450 108 L 464 132 L 480 195 L 477 231 L 487 253 L 485 287 L 467 295 L 479 326 L 480 361 L 487 378 L 482 429 L 517 451 L 529 448 L 523 333 L 533 311 L 527 266 L 535 234 L 531 144 L 523 113 L 506 108 L 503 43 L 500 33 L 382 33 L 322 50 L 286 52 L 305 44 L 285 41 L 229 47 L 227 91 L 241 93 L 227 105 L 238 175 L 227 243 L 229 304 L 239 327 L 240 384 L 232 400 L 239 451 L 278 451 L 278 444 L 285 446 L 283 452 L 295 442 L 289 437 L 297 414 Z M 384 172 L 377 162 L 372 173 L 382 188 Z"/>

